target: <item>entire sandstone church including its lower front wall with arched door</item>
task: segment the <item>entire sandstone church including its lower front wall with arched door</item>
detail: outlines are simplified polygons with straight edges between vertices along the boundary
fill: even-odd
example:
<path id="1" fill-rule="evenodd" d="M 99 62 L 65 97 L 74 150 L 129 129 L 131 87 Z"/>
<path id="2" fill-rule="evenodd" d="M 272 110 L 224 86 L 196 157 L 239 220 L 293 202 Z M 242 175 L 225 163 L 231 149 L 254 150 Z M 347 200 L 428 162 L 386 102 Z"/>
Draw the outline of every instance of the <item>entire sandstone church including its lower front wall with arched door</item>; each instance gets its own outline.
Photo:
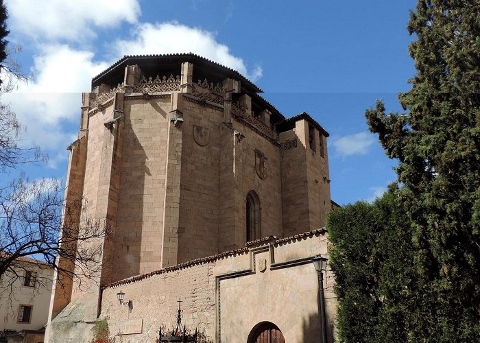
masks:
<path id="1" fill-rule="evenodd" d="M 99 272 L 57 277 L 46 342 L 91 342 L 99 320 L 115 342 L 155 342 L 179 298 L 207 342 L 321 342 L 319 289 L 333 342 L 333 276 L 320 285 L 312 263 L 328 258 L 328 132 L 261 92 L 194 54 L 125 56 L 93 78 L 66 202 L 83 200 L 77 230 L 88 215 L 112 233 L 78 242 Z"/>

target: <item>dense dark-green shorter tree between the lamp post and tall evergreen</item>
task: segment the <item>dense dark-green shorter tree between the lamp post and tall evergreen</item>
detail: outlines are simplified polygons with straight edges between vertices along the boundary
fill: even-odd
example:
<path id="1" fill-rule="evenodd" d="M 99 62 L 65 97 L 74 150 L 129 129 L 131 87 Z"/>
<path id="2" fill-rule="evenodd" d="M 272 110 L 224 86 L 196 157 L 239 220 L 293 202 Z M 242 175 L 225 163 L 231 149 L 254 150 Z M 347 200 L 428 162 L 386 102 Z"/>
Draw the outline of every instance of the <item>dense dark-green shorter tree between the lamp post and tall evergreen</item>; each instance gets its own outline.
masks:
<path id="1" fill-rule="evenodd" d="M 413 279 L 409 220 L 391 189 L 328 215 L 342 342 L 407 342 Z"/>

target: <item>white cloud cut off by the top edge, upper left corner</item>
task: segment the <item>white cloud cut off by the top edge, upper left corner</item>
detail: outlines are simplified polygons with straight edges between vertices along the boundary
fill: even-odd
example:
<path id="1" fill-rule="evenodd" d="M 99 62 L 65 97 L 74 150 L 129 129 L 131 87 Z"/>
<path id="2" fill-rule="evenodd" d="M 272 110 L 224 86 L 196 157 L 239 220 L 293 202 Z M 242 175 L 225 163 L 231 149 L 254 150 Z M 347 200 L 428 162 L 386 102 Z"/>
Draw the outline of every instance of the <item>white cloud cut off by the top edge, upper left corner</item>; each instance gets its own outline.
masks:
<path id="1" fill-rule="evenodd" d="M 7 0 L 9 28 L 41 40 L 82 40 L 95 37 L 96 27 L 135 23 L 137 0 Z"/>

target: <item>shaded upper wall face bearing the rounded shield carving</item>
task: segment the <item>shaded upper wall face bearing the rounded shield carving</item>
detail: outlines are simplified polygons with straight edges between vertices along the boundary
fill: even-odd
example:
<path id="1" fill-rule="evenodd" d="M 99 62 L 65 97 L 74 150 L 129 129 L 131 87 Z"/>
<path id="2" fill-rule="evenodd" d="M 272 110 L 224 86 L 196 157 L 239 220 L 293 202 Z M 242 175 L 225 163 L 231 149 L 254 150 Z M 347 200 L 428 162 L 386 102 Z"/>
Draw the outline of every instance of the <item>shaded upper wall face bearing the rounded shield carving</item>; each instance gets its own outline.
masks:
<path id="1" fill-rule="evenodd" d="M 178 263 L 218 253 L 221 106 L 182 102 Z"/>

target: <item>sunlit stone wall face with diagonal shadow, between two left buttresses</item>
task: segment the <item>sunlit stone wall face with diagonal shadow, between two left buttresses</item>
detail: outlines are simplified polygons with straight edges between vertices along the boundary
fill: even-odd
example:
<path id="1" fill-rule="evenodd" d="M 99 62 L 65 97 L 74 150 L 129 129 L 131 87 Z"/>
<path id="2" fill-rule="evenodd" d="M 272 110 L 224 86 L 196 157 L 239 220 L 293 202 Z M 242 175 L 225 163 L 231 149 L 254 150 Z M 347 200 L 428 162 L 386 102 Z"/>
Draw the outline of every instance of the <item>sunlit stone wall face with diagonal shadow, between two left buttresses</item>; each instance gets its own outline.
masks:
<path id="1" fill-rule="evenodd" d="M 162 268 L 170 95 L 125 97 L 112 281 Z"/>

